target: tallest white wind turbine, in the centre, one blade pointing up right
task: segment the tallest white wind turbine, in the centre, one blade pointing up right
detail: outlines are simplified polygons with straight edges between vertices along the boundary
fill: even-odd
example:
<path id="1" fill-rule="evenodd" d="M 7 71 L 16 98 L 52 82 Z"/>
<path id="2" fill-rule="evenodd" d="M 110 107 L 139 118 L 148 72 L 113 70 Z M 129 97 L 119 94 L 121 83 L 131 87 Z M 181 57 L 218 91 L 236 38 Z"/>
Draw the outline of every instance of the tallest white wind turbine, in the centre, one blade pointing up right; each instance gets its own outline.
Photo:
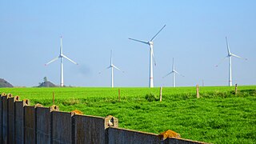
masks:
<path id="1" fill-rule="evenodd" d="M 162 26 L 162 29 L 164 27 L 166 27 L 166 25 Z M 138 39 L 134 39 L 134 38 L 129 38 L 130 40 L 133 40 L 133 41 L 136 41 L 136 42 L 142 42 L 142 43 L 147 44 L 147 45 L 150 46 L 150 82 L 149 82 L 149 87 L 154 87 L 154 82 L 153 82 L 153 58 L 154 58 L 153 45 L 154 45 L 154 43 L 153 43 L 153 40 L 162 31 L 162 29 L 159 30 L 158 33 L 155 34 L 154 37 L 151 38 L 150 41 L 148 41 L 148 42 L 142 41 L 142 40 L 138 40 Z M 156 65 L 155 64 L 155 60 L 154 60 L 154 65 Z"/>

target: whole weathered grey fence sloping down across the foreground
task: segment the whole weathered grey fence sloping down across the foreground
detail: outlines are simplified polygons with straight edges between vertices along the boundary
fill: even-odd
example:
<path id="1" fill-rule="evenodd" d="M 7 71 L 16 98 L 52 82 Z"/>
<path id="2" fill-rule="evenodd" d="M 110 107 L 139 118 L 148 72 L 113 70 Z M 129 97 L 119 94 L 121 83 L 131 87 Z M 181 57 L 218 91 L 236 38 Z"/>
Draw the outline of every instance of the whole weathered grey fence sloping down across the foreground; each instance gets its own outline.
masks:
<path id="1" fill-rule="evenodd" d="M 203 143 L 118 128 L 118 118 L 95 117 L 58 110 L 58 106 L 30 106 L 28 99 L 1 94 L 0 143 Z"/>

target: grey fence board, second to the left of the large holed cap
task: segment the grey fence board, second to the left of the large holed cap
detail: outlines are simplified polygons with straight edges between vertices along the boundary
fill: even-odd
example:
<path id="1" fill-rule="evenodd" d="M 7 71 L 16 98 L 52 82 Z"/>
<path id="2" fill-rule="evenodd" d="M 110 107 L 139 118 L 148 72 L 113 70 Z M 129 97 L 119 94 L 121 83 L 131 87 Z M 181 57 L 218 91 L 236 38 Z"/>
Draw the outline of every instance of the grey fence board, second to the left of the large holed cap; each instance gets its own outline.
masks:
<path id="1" fill-rule="evenodd" d="M 72 143 L 71 113 L 53 111 L 52 114 L 52 143 Z"/>

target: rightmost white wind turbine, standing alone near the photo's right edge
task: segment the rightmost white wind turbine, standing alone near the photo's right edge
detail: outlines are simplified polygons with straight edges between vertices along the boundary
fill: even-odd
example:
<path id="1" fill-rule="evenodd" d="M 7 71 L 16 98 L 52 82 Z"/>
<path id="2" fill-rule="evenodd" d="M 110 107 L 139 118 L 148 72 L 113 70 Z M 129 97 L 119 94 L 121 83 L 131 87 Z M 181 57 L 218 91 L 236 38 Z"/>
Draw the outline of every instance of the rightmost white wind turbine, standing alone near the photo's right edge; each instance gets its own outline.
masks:
<path id="1" fill-rule="evenodd" d="M 230 46 L 229 46 L 229 43 L 227 42 L 227 38 L 226 38 L 226 47 L 227 47 L 227 56 L 225 58 L 229 58 L 229 86 L 232 86 L 232 62 L 231 62 L 231 58 L 232 57 L 241 58 L 241 57 L 236 55 L 236 54 L 232 54 L 230 52 Z M 223 58 L 222 60 L 224 60 L 225 58 Z M 244 59 L 247 60 L 247 58 L 244 58 Z M 218 65 L 216 65 L 216 66 L 218 66 Z"/>

